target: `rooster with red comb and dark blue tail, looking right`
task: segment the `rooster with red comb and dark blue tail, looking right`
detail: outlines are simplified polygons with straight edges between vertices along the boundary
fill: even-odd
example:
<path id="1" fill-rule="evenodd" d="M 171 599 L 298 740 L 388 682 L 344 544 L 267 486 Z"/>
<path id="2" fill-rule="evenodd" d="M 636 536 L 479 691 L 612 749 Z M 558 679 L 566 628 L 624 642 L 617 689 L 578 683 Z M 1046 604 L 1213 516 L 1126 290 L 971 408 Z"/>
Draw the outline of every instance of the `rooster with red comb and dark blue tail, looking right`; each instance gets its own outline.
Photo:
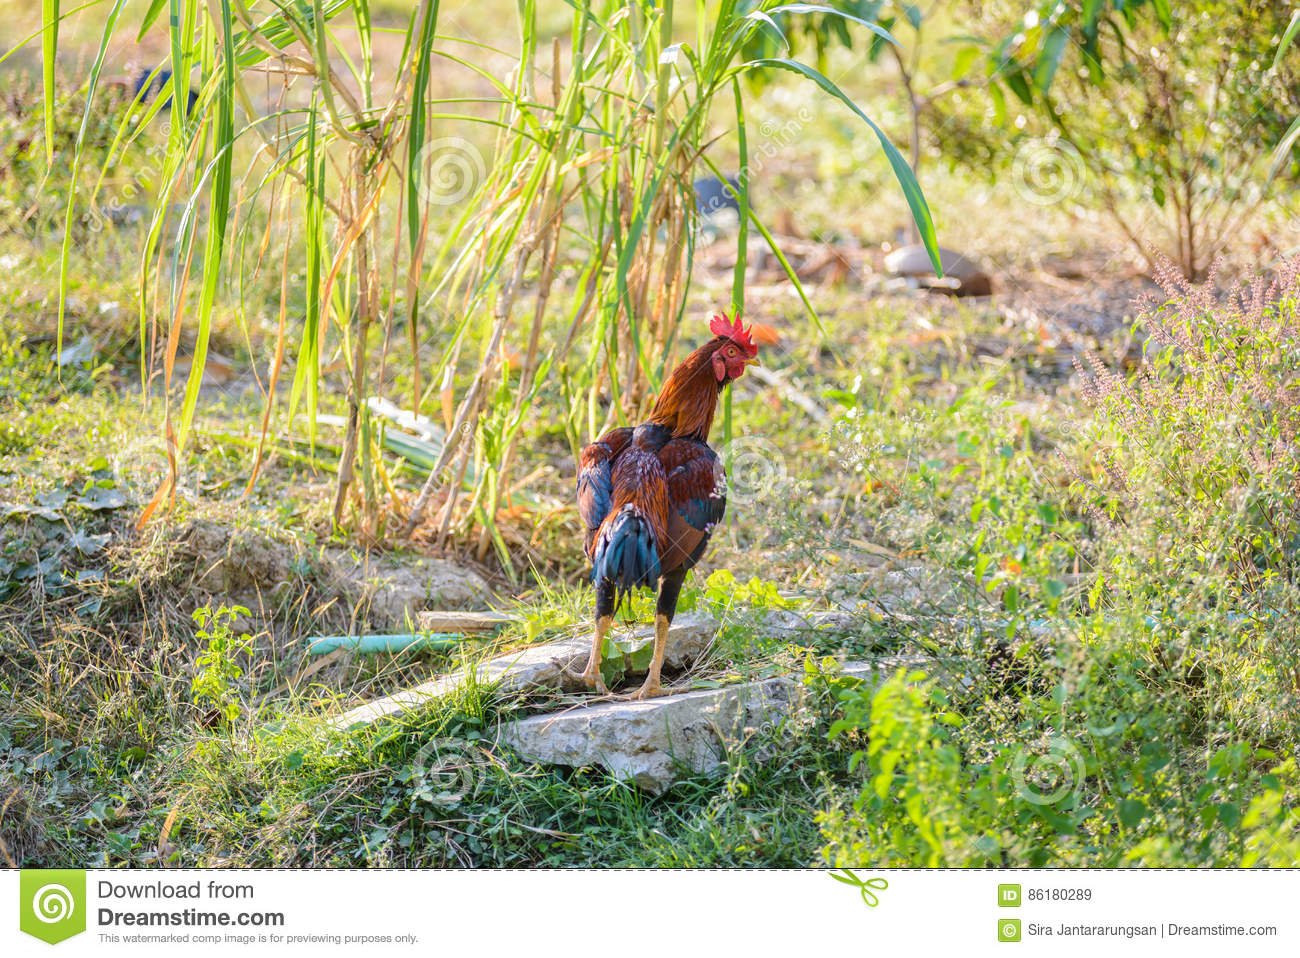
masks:
<path id="1" fill-rule="evenodd" d="M 708 329 L 714 338 L 672 370 L 649 420 L 611 429 L 578 456 L 577 508 L 595 584 L 595 636 L 582 681 L 602 694 L 601 646 L 615 608 L 633 589 L 655 588 L 654 654 L 633 698 L 664 694 L 659 671 L 681 584 L 727 508 L 727 473 L 708 447 L 708 429 L 723 389 L 759 365 L 758 346 L 738 317 L 714 316 Z"/>

